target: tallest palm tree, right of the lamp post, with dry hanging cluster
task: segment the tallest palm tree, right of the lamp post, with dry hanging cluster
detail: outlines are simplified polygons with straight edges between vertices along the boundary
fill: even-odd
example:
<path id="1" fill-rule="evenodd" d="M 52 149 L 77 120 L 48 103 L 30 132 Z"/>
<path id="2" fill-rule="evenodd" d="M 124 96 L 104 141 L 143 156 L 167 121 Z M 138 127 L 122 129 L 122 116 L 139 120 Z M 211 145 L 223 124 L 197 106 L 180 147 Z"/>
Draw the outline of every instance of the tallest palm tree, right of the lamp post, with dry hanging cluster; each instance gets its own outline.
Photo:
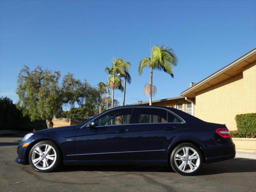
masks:
<path id="1" fill-rule="evenodd" d="M 153 86 L 153 70 L 164 71 L 174 78 L 172 68 L 178 64 L 176 54 L 167 46 L 154 46 L 150 47 L 150 58 L 145 57 L 140 60 L 138 68 L 139 75 L 142 74 L 145 67 L 150 68 L 150 81 L 144 87 L 144 94 L 149 96 L 149 105 L 152 105 L 152 95 L 156 93 L 156 86 Z"/>

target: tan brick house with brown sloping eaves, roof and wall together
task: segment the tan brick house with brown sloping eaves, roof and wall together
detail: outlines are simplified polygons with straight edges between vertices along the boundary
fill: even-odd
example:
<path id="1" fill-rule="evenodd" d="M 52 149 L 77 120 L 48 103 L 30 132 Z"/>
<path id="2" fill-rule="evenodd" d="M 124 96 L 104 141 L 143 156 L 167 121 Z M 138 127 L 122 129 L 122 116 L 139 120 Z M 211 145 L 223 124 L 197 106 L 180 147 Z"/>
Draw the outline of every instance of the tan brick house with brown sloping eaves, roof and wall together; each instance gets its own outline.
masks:
<path id="1" fill-rule="evenodd" d="M 200 82 L 190 83 L 190 88 L 180 95 L 155 100 L 152 105 L 174 107 L 236 130 L 237 114 L 256 112 L 256 49 Z M 148 105 L 148 102 L 142 104 Z"/>

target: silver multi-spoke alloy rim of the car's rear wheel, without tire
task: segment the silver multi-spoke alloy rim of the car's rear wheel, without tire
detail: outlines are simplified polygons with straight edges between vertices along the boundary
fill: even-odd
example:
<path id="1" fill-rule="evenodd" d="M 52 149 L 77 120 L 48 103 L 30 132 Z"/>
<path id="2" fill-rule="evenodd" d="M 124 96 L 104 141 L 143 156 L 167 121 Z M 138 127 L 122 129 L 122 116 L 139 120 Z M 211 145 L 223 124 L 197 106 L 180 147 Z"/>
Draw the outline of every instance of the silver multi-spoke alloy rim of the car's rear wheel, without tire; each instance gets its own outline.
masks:
<path id="1" fill-rule="evenodd" d="M 200 165 L 200 157 L 198 152 L 191 147 L 182 147 L 174 155 L 176 167 L 184 172 L 194 172 Z"/>

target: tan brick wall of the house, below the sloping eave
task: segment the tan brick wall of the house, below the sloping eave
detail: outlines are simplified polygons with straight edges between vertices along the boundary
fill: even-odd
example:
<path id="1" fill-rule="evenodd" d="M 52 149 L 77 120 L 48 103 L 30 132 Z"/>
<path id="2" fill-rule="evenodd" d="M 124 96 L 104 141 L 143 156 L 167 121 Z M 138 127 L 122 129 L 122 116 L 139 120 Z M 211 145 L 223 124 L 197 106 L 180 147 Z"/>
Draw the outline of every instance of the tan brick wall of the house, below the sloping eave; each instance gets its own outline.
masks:
<path id="1" fill-rule="evenodd" d="M 194 115 L 236 130 L 236 114 L 256 112 L 256 63 L 196 95 Z"/>

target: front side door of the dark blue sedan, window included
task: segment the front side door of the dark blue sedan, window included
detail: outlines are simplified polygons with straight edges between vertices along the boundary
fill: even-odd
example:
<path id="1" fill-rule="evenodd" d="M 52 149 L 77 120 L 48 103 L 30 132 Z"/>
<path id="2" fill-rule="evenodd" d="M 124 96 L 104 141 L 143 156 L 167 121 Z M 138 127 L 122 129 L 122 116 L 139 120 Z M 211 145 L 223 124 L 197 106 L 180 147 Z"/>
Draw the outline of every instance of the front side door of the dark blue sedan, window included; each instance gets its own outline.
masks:
<path id="1" fill-rule="evenodd" d="M 94 128 L 81 128 L 75 140 L 76 160 L 128 160 L 132 111 L 133 108 L 110 110 L 94 120 Z"/>

